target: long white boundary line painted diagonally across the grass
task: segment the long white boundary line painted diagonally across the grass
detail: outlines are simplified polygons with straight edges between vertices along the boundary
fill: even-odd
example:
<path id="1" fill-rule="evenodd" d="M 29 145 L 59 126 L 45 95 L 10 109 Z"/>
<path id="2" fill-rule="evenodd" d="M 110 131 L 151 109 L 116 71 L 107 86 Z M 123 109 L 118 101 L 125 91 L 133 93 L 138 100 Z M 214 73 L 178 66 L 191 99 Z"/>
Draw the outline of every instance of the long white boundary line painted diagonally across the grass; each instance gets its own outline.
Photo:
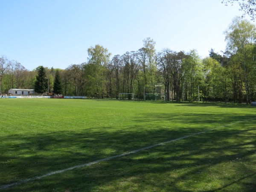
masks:
<path id="1" fill-rule="evenodd" d="M 217 128 L 209 129 L 209 130 L 206 130 L 206 131 L 201 131 L 201 132 L 198 132 L 198 133 L 195 133 L 195 134 L 186 135 L 186 136 L 174 139 L 174 140 L 169 140 L 169 141 L 166 141 L 166 142 L 163 142 L 163 143 L 158 143 L 158 144 L 155 144 L 155 145 L 150 145 L 148 147 L 139 148 L 137 150 L 130 151 L 130 152 L 127 152 L 127 153 L 115 155 L 115 156 L 112 156 L 112 157 L 107 157 L 107 158 L 96 160 L 96 161 L 93 161 L 93 162 L 90 162 L 90 163 L 85 163 L 85 164 L 73 166 L 73 167 L 70 167 L 70 168 L 67 168 L 67 169 L 62 169 L 62 170 L 58 170 L 58 171 L 54 171 L 54 172 L 49 172 L 49 173 L 47 173 L 45 175 L 31 177 L 31 178 L 28 178 L 28 179 L 25 179 L 25 180 L 18 181 L 16 183 L 11 183 L 11 184 L 8 184 L 8 185 L 0 186 L 0 189 L 6 189 L 6 188 L 9 188 L 9 187 L 12 187 L 12 186 L 15 186 L 15 185 L 20 185 L 22 183 L 27 183 L 27 182 L 29 182 L 31 180 L 41 179 L 43 177 L 48 177 L 50 175 L 55 175 L 55 174 L 58 174 L 58 173 L 67 172 L 67 171 L 70 171 L 70 170 L 73 170 L 73 169 L 76 169 L 76 168 L 91 166 L 93 164 L 96 164 L 96 163 L 99 163 L 99 162 L 102 162 L 102 161 L 112 160 L 112 159 L 117 158 L 117 157 L 123 157 L 123 156 L 129 155 L 129 154 L 135 154 L 137 152 L 140 152 L 140 151 L 143 151 L 143 150 L 146 150 L 146 149 L 150 149 L 150 148 L 154 148 L 154 147 L 157 147 L 157 146 L 160 146 L 160 145 L 164 145 L 166 143 L 172 143 L 172 142 L 175 142 L 175 141 L 178 141 L 178 140 L 183 140 L 183 139 L 188 138 L 188 137 L 193 137 L 195 135 L 207 133 L 209 131 L 212 131 L 212 130 L 215 130 L 215 129 L 218 129 L 218 128 L 228 127 L 230 125 L 234 125 L 234 124 L 237 124 L 237 123 L 240 123 L 240 122 L 245 122 L 245 121 L 251 121 L 251 120 L 254 120 L 254 119 L 256 119 L 256 118 L 248 119 L 248 120 L 244 120 L 244 121 L 233 122 L 233 123 L 230 123 L 228 125 L 223 125 L 223 126 L 220 126 L 220 127 L 217 127 Z"/>

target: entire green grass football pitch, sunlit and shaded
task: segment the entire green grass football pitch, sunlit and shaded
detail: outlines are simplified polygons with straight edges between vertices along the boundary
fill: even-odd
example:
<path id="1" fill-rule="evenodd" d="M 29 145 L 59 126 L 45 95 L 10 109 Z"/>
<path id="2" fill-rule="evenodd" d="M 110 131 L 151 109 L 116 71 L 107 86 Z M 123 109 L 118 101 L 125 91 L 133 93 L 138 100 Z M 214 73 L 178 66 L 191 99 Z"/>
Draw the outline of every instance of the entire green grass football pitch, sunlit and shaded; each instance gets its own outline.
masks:
<path id="1" fill-rule="evenodd" d="M 1 192 L 256 191 L 256 107 L 0 99 L 0 111 Z"/>

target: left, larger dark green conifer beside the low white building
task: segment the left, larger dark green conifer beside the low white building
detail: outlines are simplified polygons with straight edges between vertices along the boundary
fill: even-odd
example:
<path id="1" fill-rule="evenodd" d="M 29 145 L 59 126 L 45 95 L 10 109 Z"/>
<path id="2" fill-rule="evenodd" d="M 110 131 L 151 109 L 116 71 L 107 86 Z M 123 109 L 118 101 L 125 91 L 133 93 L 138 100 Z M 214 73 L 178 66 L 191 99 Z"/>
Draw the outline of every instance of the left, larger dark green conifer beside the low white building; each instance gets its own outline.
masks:
<path id="1" fill-rule="evenodd" d="M 46 77 L 46 71 L 43 66 L 37 68 L 38 75 L 36 76 L 34 90 L 36 93 L 47 92 L 48 89 L 48 79 Z"/>

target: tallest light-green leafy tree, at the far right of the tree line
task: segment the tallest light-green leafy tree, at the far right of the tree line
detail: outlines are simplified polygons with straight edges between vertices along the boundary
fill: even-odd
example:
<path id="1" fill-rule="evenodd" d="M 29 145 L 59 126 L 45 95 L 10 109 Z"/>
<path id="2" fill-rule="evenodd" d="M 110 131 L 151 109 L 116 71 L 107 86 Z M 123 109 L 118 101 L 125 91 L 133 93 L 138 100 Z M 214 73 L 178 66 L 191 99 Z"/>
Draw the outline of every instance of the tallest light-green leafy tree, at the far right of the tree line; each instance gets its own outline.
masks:
<path id="1" fill-rule="evenodd" d="M 230 54 L 230 61 L 227 70 L 230 74 L 233 87 L 233 101 L 242 102 L 246 95 L 247 104 L 250 98 L 250 90 L 254 89 L 252 79 L 255 74 L 255 41 L 256 27 L 247 20 L 235 17 L 229 28 L 224 32 L 227 41 L 227 53 Z"/>

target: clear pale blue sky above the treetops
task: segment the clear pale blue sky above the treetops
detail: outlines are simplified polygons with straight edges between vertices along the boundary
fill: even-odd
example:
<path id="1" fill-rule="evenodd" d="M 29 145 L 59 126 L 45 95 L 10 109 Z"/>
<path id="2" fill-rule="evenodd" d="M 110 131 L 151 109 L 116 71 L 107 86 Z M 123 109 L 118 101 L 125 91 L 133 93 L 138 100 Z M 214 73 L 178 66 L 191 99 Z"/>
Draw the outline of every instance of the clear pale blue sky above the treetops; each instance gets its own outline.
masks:
<path id="1" fill-rule="evenodd" d="M 221 0 L 0 0 L 0 56 L 27 70 L 66 69 L 87 62 L 96 44 L 123 55 L 149 37 L 157 52 L 196 49 L 204 58 L 225 50 L 223 32 L 242 14 Z"/>

